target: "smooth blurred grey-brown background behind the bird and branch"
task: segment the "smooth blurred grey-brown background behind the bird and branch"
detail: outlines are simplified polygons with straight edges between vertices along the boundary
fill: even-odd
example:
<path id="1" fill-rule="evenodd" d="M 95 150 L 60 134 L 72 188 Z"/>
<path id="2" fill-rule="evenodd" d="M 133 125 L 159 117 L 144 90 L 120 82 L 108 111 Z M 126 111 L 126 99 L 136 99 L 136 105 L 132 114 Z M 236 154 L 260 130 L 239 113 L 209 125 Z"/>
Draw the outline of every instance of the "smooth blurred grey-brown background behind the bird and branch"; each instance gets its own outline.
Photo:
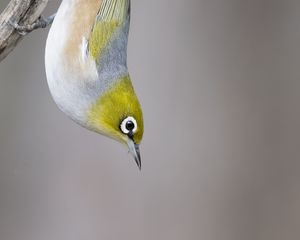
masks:
<path id="1" fill-rule="evenodd" d="M 299 13 L 296 0 L 132 0 L 141 172 L 58 110 L 48 29 L 29 34 L 0 63 L 0 239 L 300 239 Z"/>

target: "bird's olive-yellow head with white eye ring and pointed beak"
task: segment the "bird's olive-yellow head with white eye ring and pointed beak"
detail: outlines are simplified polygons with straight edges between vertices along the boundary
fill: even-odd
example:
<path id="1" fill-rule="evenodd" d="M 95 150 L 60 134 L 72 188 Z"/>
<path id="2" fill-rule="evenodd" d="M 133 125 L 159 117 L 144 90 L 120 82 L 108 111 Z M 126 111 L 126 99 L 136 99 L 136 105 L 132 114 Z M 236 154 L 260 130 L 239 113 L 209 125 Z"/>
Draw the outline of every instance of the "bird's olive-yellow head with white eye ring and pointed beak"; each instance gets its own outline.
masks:
<path id="1" fill-rule="evenodd" d="M 88 125 L 127 145 L 141 168 L 139 144 L 144 132 L 143 114 L 128 75 L 115 81 L 99 96 L 89 110 Z"/>

